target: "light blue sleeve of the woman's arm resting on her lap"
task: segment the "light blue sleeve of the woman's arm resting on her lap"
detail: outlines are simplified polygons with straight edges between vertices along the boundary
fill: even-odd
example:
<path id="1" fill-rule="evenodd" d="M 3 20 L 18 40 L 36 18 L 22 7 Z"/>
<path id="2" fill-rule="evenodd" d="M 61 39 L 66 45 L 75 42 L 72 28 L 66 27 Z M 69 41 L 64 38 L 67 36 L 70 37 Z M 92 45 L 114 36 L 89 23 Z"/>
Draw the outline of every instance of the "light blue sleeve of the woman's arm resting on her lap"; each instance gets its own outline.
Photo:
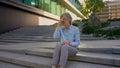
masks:
<path id="1" fill-rule="evenodd" d="M 71 46 L 73 47 L 78 47 L 78 45 L 80 44 L 80 31 L 79 29 L 77 29 L 75 31 L 75 35 L 74 35 L 74 41 L 70 43 Z"/>

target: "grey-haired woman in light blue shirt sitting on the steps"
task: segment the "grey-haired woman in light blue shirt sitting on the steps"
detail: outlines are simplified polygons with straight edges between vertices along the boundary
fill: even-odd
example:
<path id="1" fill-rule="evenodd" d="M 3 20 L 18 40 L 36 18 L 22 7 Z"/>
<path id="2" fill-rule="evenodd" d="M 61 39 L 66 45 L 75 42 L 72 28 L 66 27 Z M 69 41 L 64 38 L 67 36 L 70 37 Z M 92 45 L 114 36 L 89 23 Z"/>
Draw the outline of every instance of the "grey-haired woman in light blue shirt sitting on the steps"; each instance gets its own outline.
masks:
<path id="1" fill-rule="evenodd" d="M 54 32 L 54 38 L 61 39 L 61 44 L 57 45 L 53 55 L 52 68 L 59 66 L 65 68 L 69 56 L 75 56 L 77 47 L 80 44 L 79 29 L 71 25 L 72 17 L 69 13 L 60 16 Z"/>

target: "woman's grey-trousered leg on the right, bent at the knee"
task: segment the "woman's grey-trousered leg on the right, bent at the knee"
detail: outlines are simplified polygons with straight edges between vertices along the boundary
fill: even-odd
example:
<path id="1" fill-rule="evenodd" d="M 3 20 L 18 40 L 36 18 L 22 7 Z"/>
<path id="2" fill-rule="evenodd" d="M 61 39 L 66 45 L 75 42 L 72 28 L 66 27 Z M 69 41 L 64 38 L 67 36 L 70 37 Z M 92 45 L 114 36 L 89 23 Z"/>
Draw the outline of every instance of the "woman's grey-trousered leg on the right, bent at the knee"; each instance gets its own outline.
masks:
<path id="1" fill-rule="evenodd" d="M 75 56 L 77 53 L 77 49 L 68 45 L 63 45 L 61 47 L 61 56 L 60 56 L 60 68 L 64 68 L 66 63 L 67 63 L 67 59 L 68 56 Z"/>

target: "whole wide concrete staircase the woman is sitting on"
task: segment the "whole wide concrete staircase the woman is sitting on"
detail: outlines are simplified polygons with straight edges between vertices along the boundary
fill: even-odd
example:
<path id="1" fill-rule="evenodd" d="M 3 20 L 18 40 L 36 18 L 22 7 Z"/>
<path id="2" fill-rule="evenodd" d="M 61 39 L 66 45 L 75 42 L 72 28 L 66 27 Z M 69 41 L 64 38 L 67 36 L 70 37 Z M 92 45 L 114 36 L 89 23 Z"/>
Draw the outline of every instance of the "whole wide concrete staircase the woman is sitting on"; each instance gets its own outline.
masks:
<path id="1" fill-rule="evenodd" d="M 59 42 L 51 38 L 54 29 L 48 29 L 29 26 L 1 35 L 0 62 L 23 68 L 51 68 L 54 48 Z M 76 57 L 69 57 L 66 68 L 120 68 L 119 40 L 81 41 L 78 50 Z"/>

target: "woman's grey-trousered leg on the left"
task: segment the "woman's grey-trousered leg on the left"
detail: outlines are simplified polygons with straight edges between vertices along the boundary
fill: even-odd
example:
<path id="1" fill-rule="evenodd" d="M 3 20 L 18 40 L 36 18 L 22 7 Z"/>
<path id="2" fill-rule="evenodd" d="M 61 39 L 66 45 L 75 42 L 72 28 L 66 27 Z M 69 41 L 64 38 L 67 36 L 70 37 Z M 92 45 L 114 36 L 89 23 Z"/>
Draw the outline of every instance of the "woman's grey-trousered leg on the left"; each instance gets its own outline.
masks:
<path id="1" fill-rule="evenodd" d="M 55 48 L 54 55 L 53 55 L 52 68 L 56 68 L 56 66 L 59 63 L 61 47 L 62 47 L 62 44 L 59 44 Z"/>

